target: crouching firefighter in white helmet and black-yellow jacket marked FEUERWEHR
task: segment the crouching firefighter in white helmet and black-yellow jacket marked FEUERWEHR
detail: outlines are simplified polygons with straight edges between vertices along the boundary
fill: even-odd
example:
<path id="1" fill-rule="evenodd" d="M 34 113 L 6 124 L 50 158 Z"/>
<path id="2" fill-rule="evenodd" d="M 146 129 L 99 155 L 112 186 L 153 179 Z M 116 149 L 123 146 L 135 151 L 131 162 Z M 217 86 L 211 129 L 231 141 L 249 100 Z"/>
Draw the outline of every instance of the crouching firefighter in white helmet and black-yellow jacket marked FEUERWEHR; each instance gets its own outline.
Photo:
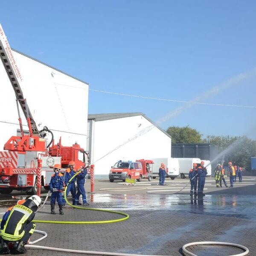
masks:
<path id="1" fill-rule="evenodd" d="M 26 253 L 24 246 L 35 231 L 35 223 L 32 223 L 32 220 L 40 204 L 41 198 L 38 195 L 32 195 L 27 200 L 19 200 L 17 205 L 10 207 L 3 215 L 1 222 L 2 254 L 10 253 L 9 242 L 13 243 L 12 254 Z"/>

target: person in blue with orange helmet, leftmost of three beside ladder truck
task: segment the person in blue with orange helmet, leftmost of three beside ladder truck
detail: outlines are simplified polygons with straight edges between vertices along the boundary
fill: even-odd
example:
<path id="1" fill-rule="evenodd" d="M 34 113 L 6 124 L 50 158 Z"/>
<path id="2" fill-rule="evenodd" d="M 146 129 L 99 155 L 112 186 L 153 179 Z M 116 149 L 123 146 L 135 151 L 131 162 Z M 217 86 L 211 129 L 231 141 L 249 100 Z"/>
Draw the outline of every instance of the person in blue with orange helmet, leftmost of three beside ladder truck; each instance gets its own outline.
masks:
<path id="1" fill-rule="evenodd" d="M 58 202 L 58 206 L 59 206 L 59 212 L 60 214 L 64 214 L 63 210 L 62 210 L 62 188 L 63 188 L 63 180 L 64 177 L 63 175 L 60 173 L 61 170 L 61 165 L 60 164 L 55 164 L 54 165 L 54 172 L 55 174 L 52 175 L 51 181 L 49 183 L 49 188 L 52 192 L 51 195 L 51 214 L 56 214 L 56 212 L 54 211 L 54 207 L 55 207 L 55 202 L 57 199 Z"/>

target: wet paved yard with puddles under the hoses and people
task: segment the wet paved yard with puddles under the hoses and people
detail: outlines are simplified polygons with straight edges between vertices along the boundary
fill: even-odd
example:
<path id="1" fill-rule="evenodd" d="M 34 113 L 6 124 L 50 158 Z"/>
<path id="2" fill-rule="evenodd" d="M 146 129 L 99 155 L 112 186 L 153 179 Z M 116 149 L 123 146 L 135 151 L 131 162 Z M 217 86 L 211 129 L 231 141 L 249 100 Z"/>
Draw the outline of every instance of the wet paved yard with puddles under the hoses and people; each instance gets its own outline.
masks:
<path id="1" fill-rule="evenodd" d="M 90 191 L 88 181 L 86 190 Z M 255 177 L 244 177 L 243 183 L 235 183 L 234 188 L 216 188 L 213 178 L 208 177 L 204 190 L 206 196 L 199 200 L 189 196 L 189 190 L 186 190 L 190 189 L 188 180 L 166 182 L 168 186 L 157 186 L 157 180 L 124 186 L 122 183 L 96 180 L 96 193 L 87 193 L 89 207 L 126 212 L 130 218 L 112 224 L 38 223 L 37 229 L 46 231 L 48 237 L 37 245 L 178 256 L 182 255 L 183 244 L 189 242 L 224 241 L 242 244 L 249 248 L 248 255 L 256 255 Z M 43 191 L 43 198 L 46 192 Z M 14 205 L 20 195 L 17 192 L 0 195 L 0 211 L 4 212 Z M 26 196 L 25 193 L 22 195 Z M 122 218 L 113 213 L 73 209 L 67 205 L 64 207 L 64 215 L 51 215 L 49 212 L 48 200 L 37 213 L 36 219 L 97 221 Z M 32 240 L 39 237 L 34 234 Z M 226 256 L 242 252 L 238 248 L 223 246 L 195 246 L 190 249 L 198 256 Z M 35 254 L 70 255 L 31 249 L 26 253 Z"/>

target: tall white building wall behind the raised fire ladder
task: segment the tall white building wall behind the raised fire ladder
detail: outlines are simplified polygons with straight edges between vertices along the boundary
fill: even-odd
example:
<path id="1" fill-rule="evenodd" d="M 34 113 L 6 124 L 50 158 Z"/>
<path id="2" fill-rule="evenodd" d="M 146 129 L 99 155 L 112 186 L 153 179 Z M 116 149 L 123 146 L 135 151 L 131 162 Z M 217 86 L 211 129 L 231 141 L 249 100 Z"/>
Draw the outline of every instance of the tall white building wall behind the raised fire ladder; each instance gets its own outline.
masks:
<path id="1" fill-rule="evenodd" d="M 62 145 L 72 145 L 77 141 L 86 147 L 88 84 L 67 76 L 47 65 L 41 64 L 13 51 L 23 78 L 20 87 L 27 99 L 29 109 L 38 125 L 45 125 L 53 131 L 55 143 L 61 136 Z M 18 123 L 16 97 L 6 71 L 0 61 L 0 151 L 6 141 L 16 135 Z M 22 114 L 23 125 L 26 120 Z M 24 126 L 23 129 L 27 129 Z M 67 131 L 59 132 L 59 131 Z M 71 133 L 70 133 L 71 132 Z M 73 134 L 76 133 L 76 134 Z M 80 135 L 79 135 L 80 134 Z M 83 135 L 81 135 L 83 134 Z"/>

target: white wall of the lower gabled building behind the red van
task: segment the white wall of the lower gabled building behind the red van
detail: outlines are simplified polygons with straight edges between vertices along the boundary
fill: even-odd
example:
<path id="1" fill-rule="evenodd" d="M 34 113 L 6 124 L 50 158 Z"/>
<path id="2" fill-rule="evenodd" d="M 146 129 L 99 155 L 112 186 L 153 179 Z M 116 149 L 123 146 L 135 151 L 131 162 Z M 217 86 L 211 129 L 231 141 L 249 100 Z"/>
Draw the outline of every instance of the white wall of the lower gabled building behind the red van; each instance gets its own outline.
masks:
<path id="1" fill-rule="evenodd" d="M 108 175 L 117 160 L 171 157 L 171 138 L 143 116 L 96 121 L 93 140 L 95 175 Z"/>

